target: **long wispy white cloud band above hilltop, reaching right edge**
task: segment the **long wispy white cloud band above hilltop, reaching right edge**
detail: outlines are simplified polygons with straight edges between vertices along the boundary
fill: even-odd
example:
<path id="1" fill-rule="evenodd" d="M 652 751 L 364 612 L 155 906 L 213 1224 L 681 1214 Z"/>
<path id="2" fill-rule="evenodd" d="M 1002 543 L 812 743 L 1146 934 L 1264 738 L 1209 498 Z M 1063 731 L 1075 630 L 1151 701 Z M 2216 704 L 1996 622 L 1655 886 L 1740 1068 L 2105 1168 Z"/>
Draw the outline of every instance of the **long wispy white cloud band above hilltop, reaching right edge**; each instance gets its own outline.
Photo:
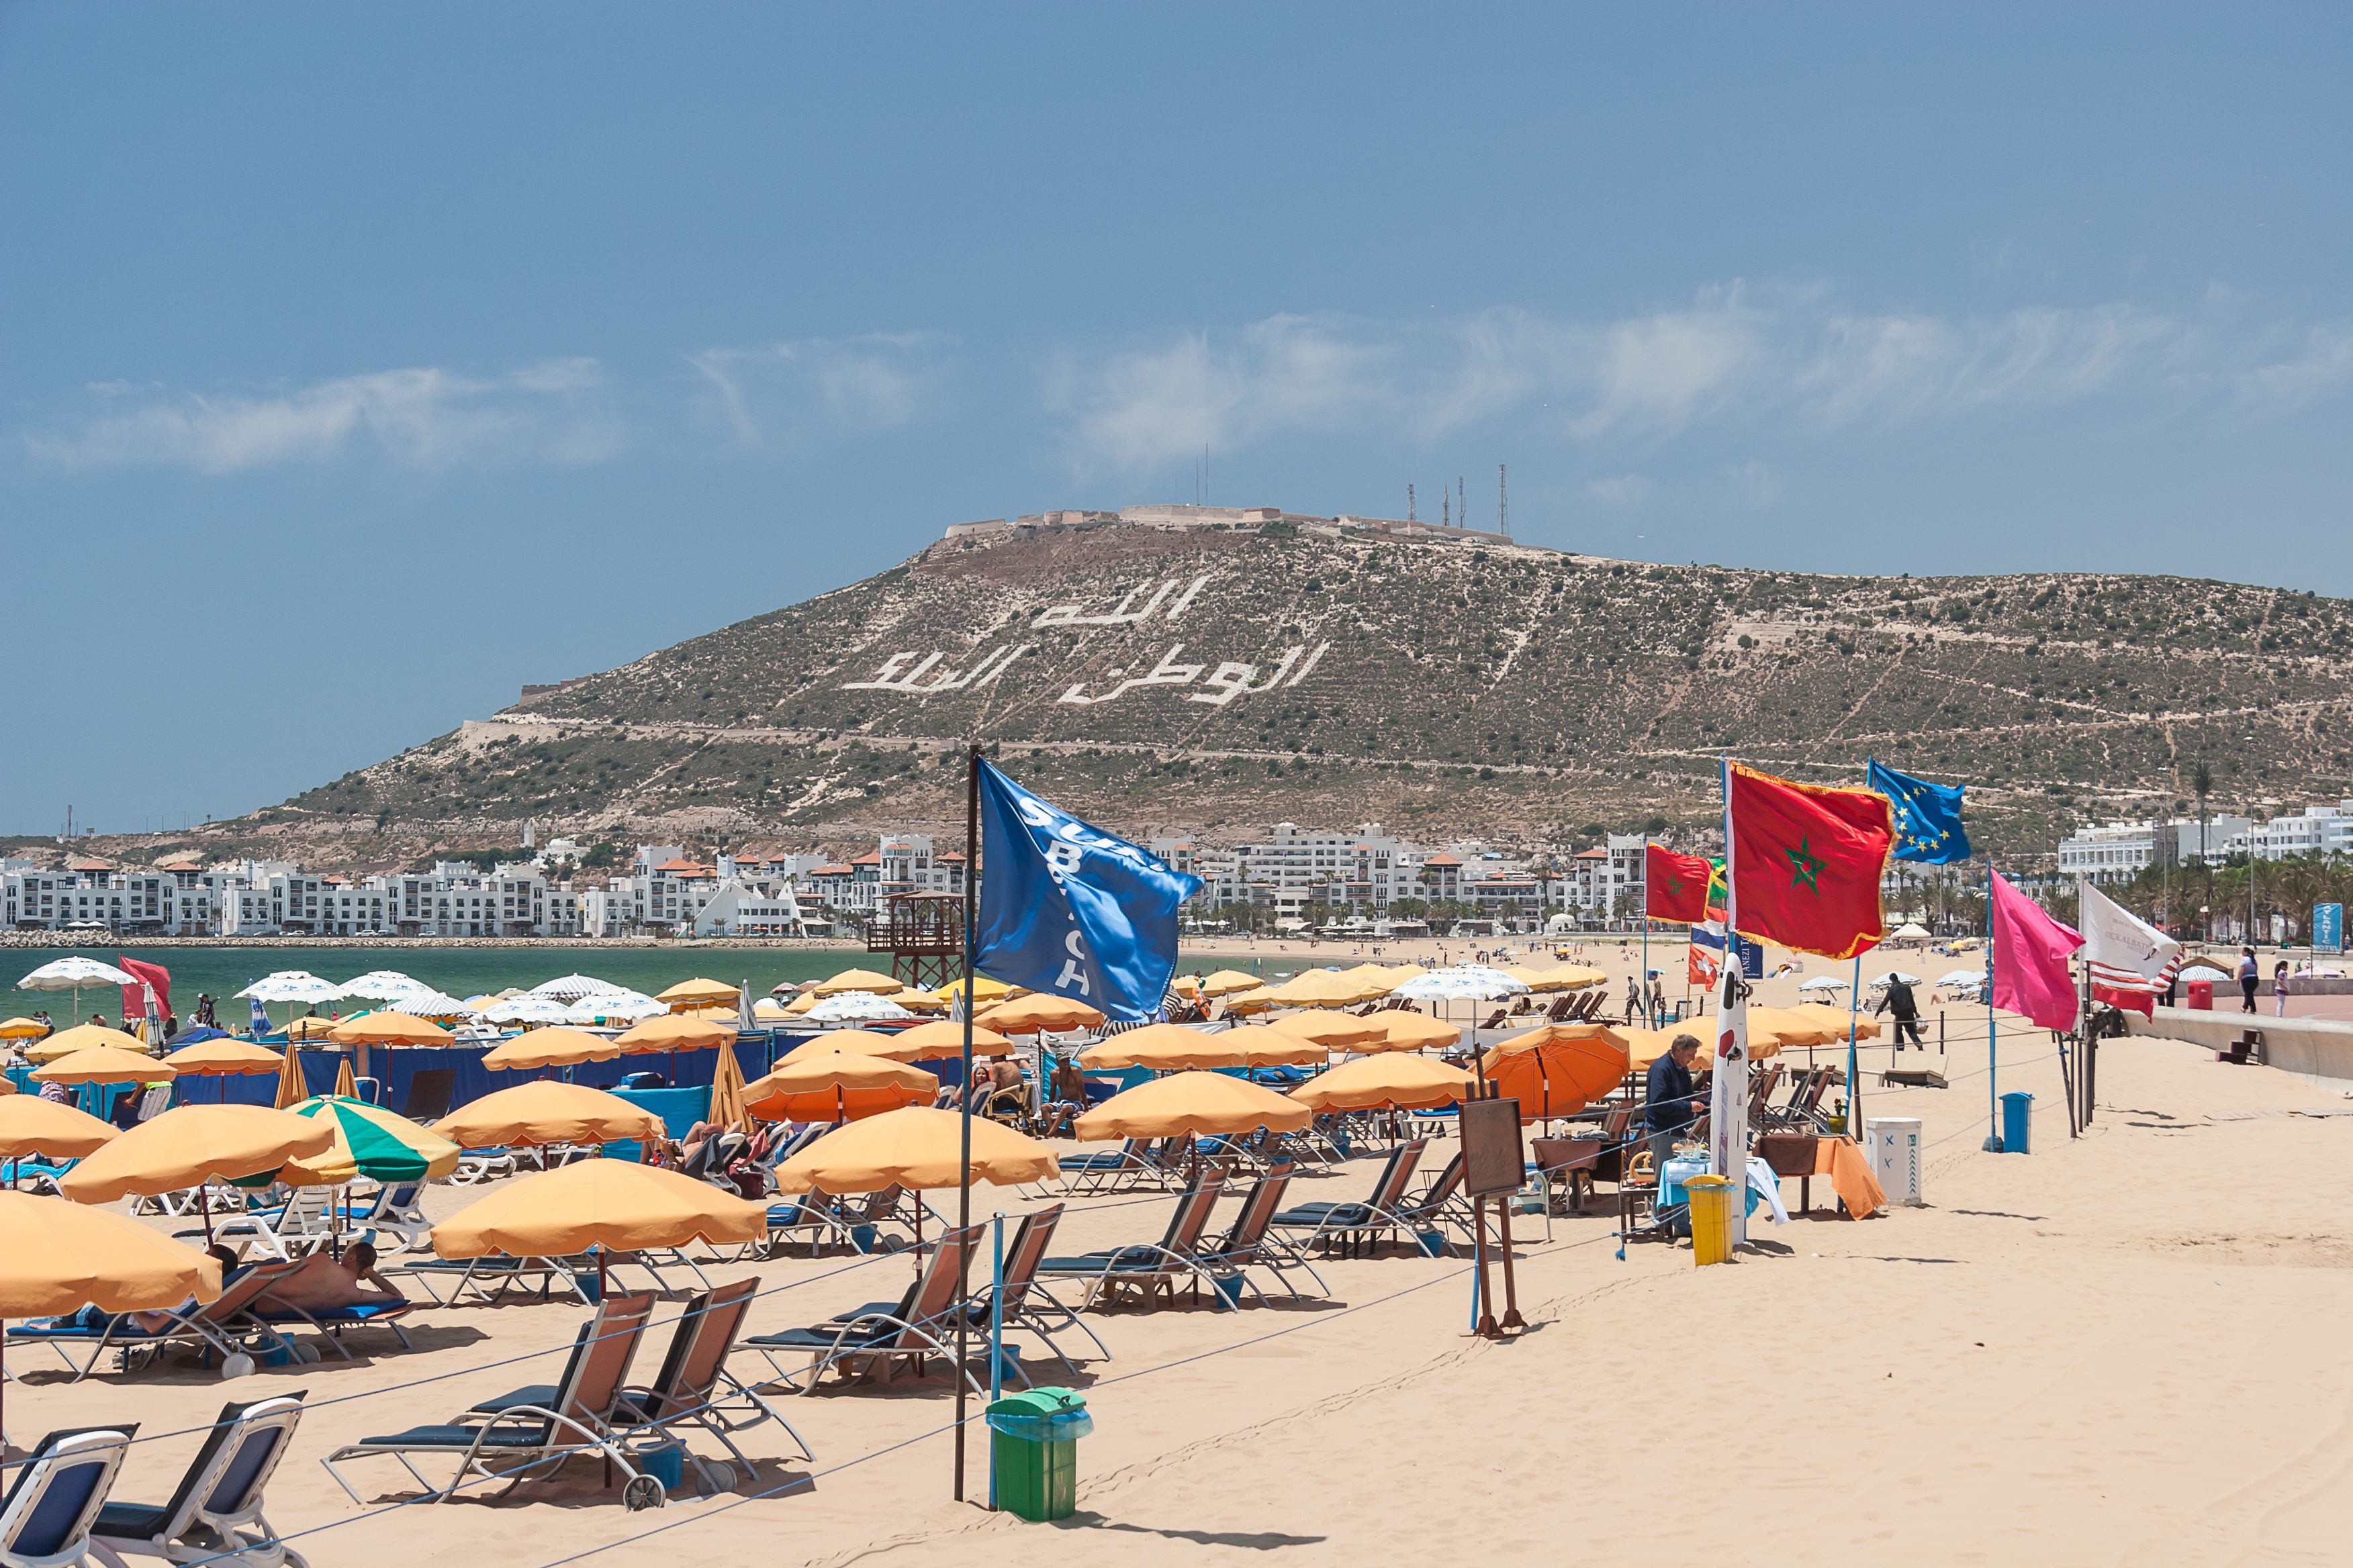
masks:
<path id="1" fill-rule="evenodd" d="M 2174 414 L 2186 397 L 2226 397 L 2268 411 L 2353 381 L 2353 327 L 2315 329 L 2266 360 L 2278 336 L 2214 303 L 2191 315 L 2134 303 L 1871 315 L 1824 289 L 1727 284 L 1687 308 L 1607 322 L 1278 315 L 1111 355 L 1064 353 L 1047 411 L 1064 421 L 1073 468 L 1144 470 L 1202 444 L 1231 451 L 1337 428 L 1433 440 L 1522 416 L 1607 449 L 1704 423 L 1824 430 L 2092 400 Z"/>

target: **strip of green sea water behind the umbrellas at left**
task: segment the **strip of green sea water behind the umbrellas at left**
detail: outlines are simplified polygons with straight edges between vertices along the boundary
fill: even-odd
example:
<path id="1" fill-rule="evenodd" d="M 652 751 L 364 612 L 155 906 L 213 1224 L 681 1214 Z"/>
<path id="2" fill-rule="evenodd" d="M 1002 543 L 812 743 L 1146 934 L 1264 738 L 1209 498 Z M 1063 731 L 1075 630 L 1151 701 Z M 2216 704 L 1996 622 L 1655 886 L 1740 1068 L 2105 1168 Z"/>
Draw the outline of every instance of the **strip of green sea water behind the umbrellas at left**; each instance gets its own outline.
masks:
<path id="1" fill-rule="evenodd" d="M 231 1004 L 231 997 L 278 969 L 308 969 L 339 985 L 376 969 L 398 969 L 452 997 L 499 992 L 508 985 L 529 990 L 569 973 L 612 980 L 647 997 L 694 978 L 727 985 L 751 980 L 751 994 L 765 997 L 781 980 L 821 980 L 845 969 L 889 969 L 887 957 L 875 961 L 854 947 L 75 947 L 73 952 L 101 964 L 113 964 L 118 957 L 160 964 L 172 971 L 172 1009 L 188 1018 L 195 1013 L 198 992 L 209 992 L 221 1004 L 224 1027 L 245 1027 L 247 1004 Z M 19 976 L 66 957 L 66 950 L 26 947 L 7 957 L 21 964 L 0 966 L 0 985 L 9 987 L 5 1001 L 9 1013 L 47 1006 L 61 1023 L 73 1018 L 73 992 L 16 990 Z M 367 1004 L 341 1006 L 351 1011 Z M 115 987 L 82 992 L 85 1018 L 106 1013 L 108 1023 L 118 1023 L 120 1009 L 122 992 Z M 278 1004 L 271 1013 L 282 1023 L 287 1009 Z"/>

